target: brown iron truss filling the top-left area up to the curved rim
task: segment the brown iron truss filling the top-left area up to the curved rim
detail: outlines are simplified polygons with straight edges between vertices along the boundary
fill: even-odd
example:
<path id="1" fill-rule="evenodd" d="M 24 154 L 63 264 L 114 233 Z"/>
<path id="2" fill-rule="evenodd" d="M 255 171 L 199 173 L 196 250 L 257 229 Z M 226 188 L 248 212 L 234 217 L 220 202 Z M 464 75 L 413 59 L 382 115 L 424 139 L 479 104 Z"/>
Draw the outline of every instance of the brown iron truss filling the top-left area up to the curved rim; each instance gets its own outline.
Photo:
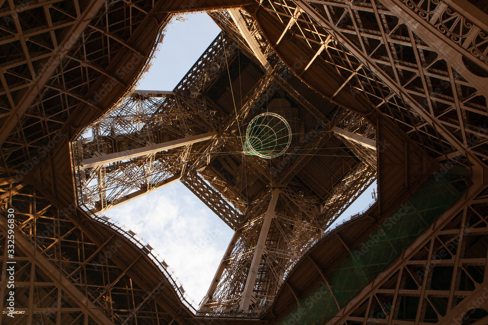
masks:
<path id="1" fill-rule="evenodd" d="M 39 155 L 42 145 L 67 133 L 64 124 L 81 106 L 84 118 L 100 114 L 113 103 L 104 102 L 108 94 L 133 86 L 143 72 L 134 70 L 147 65 L 153 57 L 148 50 L 156 48 L 145 47 L 151 33 L 142 36 L 141 29 L 160 27 L 151 18 L 159 9 L 140 5 L 54 1 L 2 12 L 13 18 L 1 30 L 2 53 L 9 62 L 1 69 L 0 91 L 5 166 L 21 169 Z M 116 23 L 125 10 L 128 19 Z M 161 40 L 160 34 L 156 42 Z"/>

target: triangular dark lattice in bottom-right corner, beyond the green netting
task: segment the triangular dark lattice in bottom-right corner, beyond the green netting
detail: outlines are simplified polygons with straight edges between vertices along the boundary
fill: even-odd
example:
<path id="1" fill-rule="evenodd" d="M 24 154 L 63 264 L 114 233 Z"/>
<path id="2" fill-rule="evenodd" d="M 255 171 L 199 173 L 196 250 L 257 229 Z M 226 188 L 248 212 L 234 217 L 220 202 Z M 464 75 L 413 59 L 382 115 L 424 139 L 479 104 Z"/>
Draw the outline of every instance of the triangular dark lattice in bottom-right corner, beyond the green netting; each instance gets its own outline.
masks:
<path id="1" fill-rule="evenodd" d="M 487 310 L 485 173 L 327 324 L 485 324 L 474 323 Z"/>

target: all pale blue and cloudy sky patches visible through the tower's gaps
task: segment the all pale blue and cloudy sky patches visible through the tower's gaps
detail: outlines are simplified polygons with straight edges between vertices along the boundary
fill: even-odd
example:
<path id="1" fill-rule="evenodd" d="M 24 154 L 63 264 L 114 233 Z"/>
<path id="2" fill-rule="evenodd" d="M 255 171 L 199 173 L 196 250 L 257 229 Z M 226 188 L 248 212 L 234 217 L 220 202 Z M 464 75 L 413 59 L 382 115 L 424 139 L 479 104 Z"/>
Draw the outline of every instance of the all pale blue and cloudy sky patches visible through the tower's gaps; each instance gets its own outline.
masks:
<path id="1" fill-rule="evenodd" d="M 174 19 L 167 27 L 160 52 L 138 89 L 173 90 L 220 33 L 205 13 L 184 17 L 186 21 Z M 341 219 L 363 210 L 372 201 L 373 188 L 376 182 Z M 197 304 L 206 294 L 233 235 L 232 229 L 180 182 L 108 210 L 105 215 L 132 229 L 156 249 Z"/>

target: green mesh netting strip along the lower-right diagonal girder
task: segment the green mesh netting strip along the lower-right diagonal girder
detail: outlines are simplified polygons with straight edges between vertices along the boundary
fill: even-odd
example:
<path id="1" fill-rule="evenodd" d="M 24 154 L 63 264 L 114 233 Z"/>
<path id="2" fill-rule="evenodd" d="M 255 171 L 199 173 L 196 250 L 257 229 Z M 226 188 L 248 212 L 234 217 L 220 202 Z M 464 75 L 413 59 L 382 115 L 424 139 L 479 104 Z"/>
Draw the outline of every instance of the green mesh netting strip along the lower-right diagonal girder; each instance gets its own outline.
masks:
<path id="1" fill-rule="evenodd" d="M 342 308 L 386 268 L 427 227 L 466 191 L 467 175 L 453 167 L 430 176 L 329 274 L 330 286 Z M 322 282 L 289 312 L 280 324 L 325 324 L 339 308 Z"/>

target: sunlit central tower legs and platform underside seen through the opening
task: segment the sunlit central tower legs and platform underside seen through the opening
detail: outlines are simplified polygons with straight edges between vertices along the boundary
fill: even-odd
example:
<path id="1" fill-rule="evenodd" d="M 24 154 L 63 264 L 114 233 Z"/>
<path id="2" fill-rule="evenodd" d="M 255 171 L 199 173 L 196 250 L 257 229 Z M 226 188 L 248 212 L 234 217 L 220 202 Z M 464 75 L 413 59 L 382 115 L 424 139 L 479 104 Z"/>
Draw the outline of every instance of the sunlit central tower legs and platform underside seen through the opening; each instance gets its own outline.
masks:
<path id="1" fill-rule="evenodd" d="M 294 263 L 320 238 L 321 231 L 324 231 L 326 225 L 331 224 L 357 197 L 345 197 L 344 193 L 354 187 L 359 195 L 375 179 L 375 165 L 362 160 L 358 164 L 357 160 L 352 160 L 357 156 L 347 149 L 347 140 L 338 135 L 343 139 L 338 141 L 339 138 L 334 137 L 332 130 L 328 129 L 331 122 L 310 103 L 307 105 L 312 109 L 312 114 L 320 114 L 318 116 L 321 120 L 318 122 L 321 130 L 317 132 L 307 126 L 308 133 L 313 132 L 314 139 L 304 140 L 306 131 L 303 121 L 303 139 L 300 140 L 298 120 L 295 120 L 294 124 L 292 123 L 295 142 L 293 152 L 290 153 L 318 151 L 321 143 L 326 141 L 339 146 L 334 149 L 349 158 L 345 159 L 342 168 L 332 175 L 330 184 L 327 185 L 331 190 L 321 187 L 325 192 L 317 196 L 303 184 L 303 180 L 295 176 L 300 171 L 299 163 L 304 164 L 312 154 L 297 155 L 300 162 L 293 161 L 295 165 L 285 169 L 283 173 L 286 174 L 286 178 L 281 176 L 283 167 L 280 166 L 279 159 L 268 165 L 258 157 L 245 158 L 244 124 L 252 123 L 258 110 L 264 109 L 263 101 L 263 107 L 256 105 L 261 99 L 259 95 L 262 97 L 274 85 L 279 86 L 283 93 L 286 90 L 290 92 L 292 86 L 286 89 L 282 88 L 281 84 L 267 81 L 276 78 L 281 83 L 286 83 L 283 76 L 288 74 L 289 77 L 289 71 L 283 64 L 278 65 L 276 72 L 271 76 L 263 75 L 263 72 L 256 68 L 260 62 L 254 56 L 249 58 L 245 55 L 246 52 L 252 52 L 248 48 L 241 50 L 239 46 L 244 45 L 239 45 L 226 34 L 221 34 L 173 91 L 132 92 L 117 103 L 109 114 L 105 114 L 86 128 L 81 137 L 72 144 L 77 165 L 75 177 L 78 184 L 78 201 L 91 212 L 103 212 L 173 181 L 181 180 L 236 231 L 233 241 L 237 243 L 232 245 L 232 248 L 229 247 L 224 256 L 217 271 L 217 281 L 214 280 L 216 286 L 212 285 L 207 297 L 204 298 L 205 302 L 201 308 L 203 314 L 238 310 L 239 313 L 246 310 L 251 315 L 261 313 L 272 303 L 274 295 Z M 248 75 L 244 75 L 247 77 L 244 80 L 243 73 L 230 75 L 236 64 L 239 67 L 241 63 L 247 64 L 243 72 Z M 227 87 L 230 94 L 215 97 L 217 85 L 227 82 L 225 73 L 235 79 Z M 254 82 L 254 85 L 251 84 L 253 88 L 247 93 L 249 99 L 239 101 L 238 107 L 224 106 L 230 104 L 224 101 L 225 96 L 234 96 L 232 88 L 236 87 L 234 83 L 237 82 Z M 306 102 L 296 93 L 291 94 Z M 287 116 L 290 121 L 297 118 L 299 109 L 289 107 L 291 104 L 288 99 L 269 99 L 271 103 L 272 100 L 278 101 L 279 108 L 277 105 L 268 105 L 266 110 L 275 110 Z M 301 104 L 300 102 L 299 105 Z M 309 114 L 309 111 L 301 110 L 302 115 Z M 238 116 L 235 115 L 236 112 Z M 337 115 L 337 125 L 348 125 L 349 128 L 354 125 L 356 128 L 353 131 L 356 134 L 361 131 L 366 133 L 368 127 L 365 129 L 363 124 L 368 123 L 359 115 L 348 114 L 339 108 L 335 108 L 333 112 Z M 323 126 L 322 123 L 327 125 Z M 218 133 L 219 125 L 221 131 Z M 364 130 L 360 130 L 361 128 Z M 291 141 L 292 130 L 289 125 L 287 130 L 288 139 Z M 345 129 L 340 130 L 351 133 Z M 243 134 L 243 138 L 239 139 L 237 134 Z M 374 142 L 375 135 L 371 132 L 367 135 L 373 137 L 371 141 Z M 286 150 L 289 145 L 288 143 L 284 149 Z M 355 143 L 352 147 L 361 146 Z M 228 154 L 229 157 L 226 158 L 225 153 L 229 150 L 237 154 Z M 365 150 L 366 152 L 357 153 L 366 161 L 374 155 L 374 150 Z M 359 153 L 366 155 L 363 157 Z M 218 158 L 212 159 L 212 156 Z M 273 155 L 275 156 L 279 155 Z M 227 159 L 237 161 L 238 165 L 230 165 L 225 162 Z M 283 165 L 283 162 L 281 164 Z M 354 168 L 351 170 L 351 167 Z M 228 174 L 229 168 L 235 170 L 235 175 Z M 237 174 L 239 171 L 240 175 Z M 247 182 L 252 180 L 246 180 L 243 172 L 248 178 L 260 180 L 259 187 L 249 186 Z M 342 183 L 339 183 L 341 181 Z M 286 197 L 285 200 L 291 200 L 292 203 L 280 202 L 276 212 L 271 212 L 267 217 L 273 220 L 268 220 L 268 225 L 264 227 L 264 212 L 269 205 L 269 191 L 273 184 L 287 185 L 283 189 L 283 195 Z M 331 191 L 329 195 L 328 191 Z M 249 194 L 252 195 L 252 199 Z M 326 203 L 321 196 L 327 199 Z M 321 207 L 324 206 L 326 213 L 321 211 Z M 264 238 L 261 241 L 273 244 L 256 248 L 260 236 Z M 255 261 L 251 263 L 253 259 Z M 249 280 L 247 273 L 253 265 L 259 265 L 260 274 L 256 279 Z M 251 284 L 253 282 L 254 285 Z M 248 301 L 243 302 L 246 283 L 249 283 L 247 286 L 250 289 L 247 289 Z M 252 305 L 252 308 L 246 304 Z"/>

